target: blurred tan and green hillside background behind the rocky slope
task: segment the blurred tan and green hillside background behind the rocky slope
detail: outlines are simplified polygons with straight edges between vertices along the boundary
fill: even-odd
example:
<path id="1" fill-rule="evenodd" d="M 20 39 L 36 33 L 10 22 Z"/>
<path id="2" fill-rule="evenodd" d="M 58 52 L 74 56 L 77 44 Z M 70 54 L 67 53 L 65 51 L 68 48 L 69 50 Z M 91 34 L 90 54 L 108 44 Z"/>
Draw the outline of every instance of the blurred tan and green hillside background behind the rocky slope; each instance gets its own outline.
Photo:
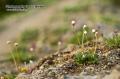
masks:
<path id="1" fill-rule="evenodd" d="M 0 0 L 0 72 L 14 71 L 10 52 L 21 65 L 76 44 L 72 20 L 110 37 L 120 30 L 120 0 Z"/>

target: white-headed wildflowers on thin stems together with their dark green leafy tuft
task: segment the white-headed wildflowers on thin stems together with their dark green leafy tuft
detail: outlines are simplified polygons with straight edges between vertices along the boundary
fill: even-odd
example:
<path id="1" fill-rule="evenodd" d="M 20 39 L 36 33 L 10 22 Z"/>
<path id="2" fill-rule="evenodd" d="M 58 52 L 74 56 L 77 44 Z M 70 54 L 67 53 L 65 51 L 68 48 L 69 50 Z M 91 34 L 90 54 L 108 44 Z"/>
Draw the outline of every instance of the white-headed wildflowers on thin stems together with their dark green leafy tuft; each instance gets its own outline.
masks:
<path id="1" fill-rule="evenodd" d="M 72 21 L 73 28 L 75 28 L 75 24 L 76 24 L 76 22 Z M 91 36 L 92 39 L 95 41 L 94 51 L 88 50 L 86 52 L 84 50 L 84 40 L 89 37 L 90 33 L 93 36 L 93 37 Z M 91 31 L 89 31 L 87 25 L 84 25 L 82 27 L 82 30 L 81 30 L 81 36 L 77 37 L 77 38 L 78 38 L 79 45 L 81 43 L 82 52 L 79 52 L 75 55 L 74 59 L 75 59 L 76 63 L 78 63 L 78 64 L 97 64 L 98 63 L 98 56 L 96 54 L 96 49 L 97 49 L 97 42 L 98 42 L 98 31 L 96 29 L 92 29 Z M 79 38 L 81 38 L 81 40 L 79 40 Z M 87 41 L 90 41 L 90 40 L 87 40 Z"/>

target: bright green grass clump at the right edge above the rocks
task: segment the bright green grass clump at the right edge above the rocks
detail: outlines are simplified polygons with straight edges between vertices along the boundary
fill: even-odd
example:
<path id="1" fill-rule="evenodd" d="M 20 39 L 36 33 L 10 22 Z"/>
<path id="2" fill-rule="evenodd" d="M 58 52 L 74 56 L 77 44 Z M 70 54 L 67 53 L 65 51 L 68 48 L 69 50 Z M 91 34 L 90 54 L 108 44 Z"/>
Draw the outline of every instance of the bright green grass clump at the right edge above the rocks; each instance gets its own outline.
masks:
<path id="1" fill-rule="evenodd" d="M 120 36 L 114 36 L 105 40 L 109 48 L 120 48 Z"/>

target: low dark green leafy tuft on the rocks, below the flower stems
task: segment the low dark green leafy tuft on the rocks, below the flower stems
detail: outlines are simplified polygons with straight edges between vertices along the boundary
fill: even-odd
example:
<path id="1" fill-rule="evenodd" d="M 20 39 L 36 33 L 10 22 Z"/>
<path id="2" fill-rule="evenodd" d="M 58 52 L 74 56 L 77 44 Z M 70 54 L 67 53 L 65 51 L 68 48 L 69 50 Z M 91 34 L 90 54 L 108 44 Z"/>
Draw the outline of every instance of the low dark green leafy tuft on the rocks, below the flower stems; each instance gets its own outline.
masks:
<path id="1" fill-rule="evenodd" d="M 98 55 L 94 52 L 78 52 L 74 60 L 77 64 L 97 64 L 98 63 Z"/>

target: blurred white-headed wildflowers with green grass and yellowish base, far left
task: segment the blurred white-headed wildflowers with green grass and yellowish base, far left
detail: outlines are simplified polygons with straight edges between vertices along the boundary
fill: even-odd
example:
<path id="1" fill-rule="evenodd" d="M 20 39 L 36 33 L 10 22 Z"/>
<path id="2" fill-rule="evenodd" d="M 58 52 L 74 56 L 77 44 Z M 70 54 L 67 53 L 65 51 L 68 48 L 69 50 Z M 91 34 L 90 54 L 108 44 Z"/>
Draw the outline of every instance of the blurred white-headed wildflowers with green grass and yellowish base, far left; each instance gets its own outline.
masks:
<path id="1" fill-rule="evenodd" d="M 26 47 L 22 44 L 19 44 L 17 42 L 12 41 L 6 41 L 7 45 L 10 45 L 10 57 L 9 60 L 12 60 L 14 62 L 16 71 L 18 72 L 27 72 L 28 68 L 26 67 L 26 64 L 24 66 L 20 66 L 23 62 L 29 62 L 33 63 L 32 60 L 35 59 L 35 55 L 32 53 L 34 49 L 31 47 L 29 50 L 26 49 Z"/>

